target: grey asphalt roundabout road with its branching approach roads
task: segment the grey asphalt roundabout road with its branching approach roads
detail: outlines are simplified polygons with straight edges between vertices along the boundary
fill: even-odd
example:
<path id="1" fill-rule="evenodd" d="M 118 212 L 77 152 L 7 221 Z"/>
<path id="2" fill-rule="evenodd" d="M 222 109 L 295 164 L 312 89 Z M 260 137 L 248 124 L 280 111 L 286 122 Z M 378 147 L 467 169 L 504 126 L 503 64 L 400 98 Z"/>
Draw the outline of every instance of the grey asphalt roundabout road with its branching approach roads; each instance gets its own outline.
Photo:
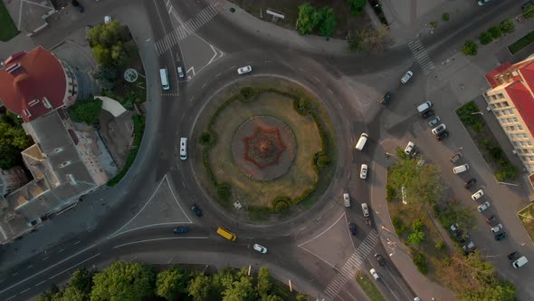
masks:
<path id="1" fill-rule="evenodd" d="M 424 43 L 429 50 L 432 50 L 434 56 L 440 56 L 442 53 L 444 55 L 449 48 L 443 47 L 443 44 L 450 43 L 456 47 L 453 41 L 461 40 L 458 39 L 459 35 L 493 23 L 495 15 L 503 14 L 502 8 L 510 3 L 511 1 L 501 1 L 500 4 L 490 7 L 480 18 L 472 18 L 467 26 L 455 24 L 448 33 L 443 33 L 439 37 L 436 34 L 424 40 Z M 49 249 L 46 254 L 38 254 L 27 262 L 5 271 L 0 278 L 2 299 L 24 299 L 34 296 L 52 282 L 68 278 L 69 273 L 77 267 L 98 265 L 117 257 L 130 256 L 138 260 L 141 254 L 152 253 L 157 255 L 153 257 L 148 255 L 147 260 L 159 263 L 188 262 L 188 258 L 199 260 L 195 254 L 203 254 L 205 261 L 211 260 L 214 262 L 212 264 L 224 263 L 225 258 L 230 257 L 235 258 L 232 262 L 228 259 L 228 263 L 237 266 L 252 263 L 267 264 L 275 270 L 280 270 L 281 274 L 292 275 L 302 280 L 300 286 L 306 288 L 307 292 L 315 292 L 315 296 L 318 297 L 329 297 L 324 290 L 331 280 L 339 275 L 339 271 L 348 260 L 347 257 L 362 246 L 363 241 L 373 231 L 364 225 L 359 211 L 359 204 L 371 198 L 368 183 L 358 179 L 359 166 L 363 162 L 373 161 L 372 154 L 381 153 L 377 150 L 380 150 L 379 141 L 385 135 L 402 139 L 405 132 L 410 131 L 411 123 L 416 117 L 414 105 L 424 102 L 426 87 L 423 79 L 418 79 L 423 73 L 415 65 L 412 53 L 407 47 L 373 57 L 333 56 L 320 53 L 304 55 L 305 53 L 292 48 L 291 45 L 266 41 L 240 30 L 234 23 L 220 16 L 215 16 L 195 34 L 199 39 L 209 42 L 205 47 L 208 47 L 208 44 L 215 45 L 224 52 L 224 56 L 214 63 L 203 66 L 202 72 L 188 71 L 187 74 L 193 76 L 187 83 L 178 82 L 176 76 L 178 65 L 203 62 L 204 58 L 195 57 L 195 53 L 191 51 L 187 53 L 193 56 L 185 57 L 182 48 L 186 48 L 186 44 L 180 44 L 180 47 L 174 44 L 169 51 L 157 55 L 152 44 L 164 39 L 176 26 L 205 9 L 205 6 L 198 2 L 174 2 L 172 7 L 176 15 L 173 17 L 174 14 L 169 14 L 169 11 L 171 13 L 172 11 L 162 2 L 115 1 L 103 2 L 96 6 L 95 10 L 89 9 L 88 14 L 84 15 L 86 19 L 98 19 L 100 12 L 117 12 L 117 15 L 120 15 L 119 10 L 124 12 L 123 14 L 145 14 L 149 20 L 150 33 L 147 35 L 151 36 L 152 40 L 150 43 L 143 43 L 145 41 L 141 42 L 138 37 L 138 43 L 143 43 L 140 51 L 146 55 L 145 57 L 150 58 L 144 61 L 146 72 L 157 74 L 158 68 L 166 66 L 169 70 L 171 90 L 166 93 L 160 92 L 157 76 L 148 75 L 151 96 L 148 105 L 150 122 L 138 160 L 132 168 L 135 173 L 129 174 L 115 189 L 115 196 L 119 200 L 110 208 L 109 216 L 112 218 L 100 222 L 97 230 L 66 240 L 60 246 Z M 135 21 L 131 19 L 128 23 L 134 35 L 135 30 L 147 26 L 147 24 L 136 26 Z M 84 26 L 84 23 L 81 24 L 83 25 L 80 26 Z M 72 24 L 61 24 L 53 29 L 55 33 L 66 33 L 72 30 Z M 52 45 L 56 43 L 54 39 L 62 37 L 61 34 L 52 37 L 42 34 L 35 39 L 45 45 Z M 200 52 L 198 55 L 201 55 Z M 323 197 L 330 201 L 320 201 L 309 211 L 277 225 L 260 227 L 227 217 L 215 204 L 208 201 L 203 189 L 198 187 L 191 166 L 193 160 L 186 162 L 176 160 L 179 137 L 191 136 L 195 121 L 211 96 L 227 84 L 239 80 L 235 67 L 244 63 L 253 64 L 254 76 L 280 76 L 307 86 L 324 102 L 337 133 L 339 168 L 333 184 Z M 398 83 L 399 75 L 408 67 L 412 67 L 415 78 L 409 85 L 401 87 Z M 395 72 L 391 73 L 390 70 Z M 357 81 L 366 83 L 367 87 L 354 88 L 347 85 Z M 368 97 L 369 93 L 379 95 L 385 91 L 394 92 L 396 100 L 403 102 L 394 101 L 384 108 L 377 105 L 377 98 Z M 410 101 L 405 102 L 405 100 Z M 363 131 L 369 133 L 370 140 L 367 142 L 366 151 L 358 152 L 353 146 L 359 133 Z M 422 139 L 429 140 L 432 137 Z M 198 155 L 191 153 L 190 157 L 194 159 Z M 174 187 L 176 198 L 182 207 L 187 209 L 196 203 L 205 211 L 207 218 L 195 218 L 187 210 L 186 214 L 193 221 L 193 225 L 189 226 L 190 234 L 184 238 L 172 235 L 170 232 L 172 227 L 167 225 L 140 228 L 113 236 L 118 229 L 133 220 L 132 218 L 138 217 L 137 213 L 144 208 L 157 183 L 165 176 L 172 183 L 171 186 Z M 339 203 L 342 191 L 349 191 L 351 195 L 358 196 L 357 199 L 353 199 L 353 209 L 346 210 Z M 336 253 L 336 249 L 330 246 L 327 247 L 331 250 L 315 246 L 316 253 L 303 251 L 299 247 L 310 239 L 323 239 L 323 236 L 318 235 L 334 225 L 338 225 L 335 228 L 336 233 L 328 232 L 329 235 L 339 238 L 340 241 L 348 241 L 346 225 L 341 227 L 336 223 L 343 214 L 346 218 L 355 220 L 360 229 L 356 238 L 348 236 L 354 249 L 348 247 L 345 253 L 336 257 L 335 254 L 332 255 Z M 231 228 L 238 235 L 236 243 L 230 243 L 215 235 L 215 228 L 221 225 Z M 260 256 L 251 249 L 252 244 L 257 241 L 269 248 L 266 256 Z M 320 245 L 320 240 L 317 245 Z M 359 267 L 367 271 L 370 267 L 377 266 L 373 257 L 375 252 L 385 257 L 388 253 L 379 244 L 368 248 L 371 250 L 367 250 L 367 256 L 361 258 L 362 263 Z M 335 259 L 322 260 L 317 254 Z M 332 265 L 332 262 L 335 264 Z M 386 267 L 377 267 L 377 270 L 383 277 L 378 287 L 388 300 L 413 298 L 415 294 L 390 263 L 386 264 Z M 319 274 L 319 271 L 322 273 Z M 358 286 L 349 282 L 344 287 L 346 289 L 339 293 L 338 298 L 343 300 L 363 298 Z"/>

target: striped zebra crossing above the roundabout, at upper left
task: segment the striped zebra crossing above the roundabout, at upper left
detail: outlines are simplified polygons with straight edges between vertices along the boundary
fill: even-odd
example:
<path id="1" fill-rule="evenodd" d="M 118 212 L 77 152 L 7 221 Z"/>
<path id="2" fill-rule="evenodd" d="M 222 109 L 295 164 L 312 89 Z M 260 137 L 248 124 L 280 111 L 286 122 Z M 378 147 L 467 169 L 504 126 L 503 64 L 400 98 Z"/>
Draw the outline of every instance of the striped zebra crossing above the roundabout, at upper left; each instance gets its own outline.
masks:
<path id="1" fill-rule="evenodd" d="M 206 23 L 210 22 L 217 10 L 214 5 L 208 5 L 200 13 L 196 14 L 193 18 L 187 20 L 186 23 L 179 25 L 172 32 L 166 34 L 161 40 L 156 42 L 156 50 L 159 55 L 165 53 L 172 46 L 178 42 L 184 40 L 189 34 L 195 33 Z"/>

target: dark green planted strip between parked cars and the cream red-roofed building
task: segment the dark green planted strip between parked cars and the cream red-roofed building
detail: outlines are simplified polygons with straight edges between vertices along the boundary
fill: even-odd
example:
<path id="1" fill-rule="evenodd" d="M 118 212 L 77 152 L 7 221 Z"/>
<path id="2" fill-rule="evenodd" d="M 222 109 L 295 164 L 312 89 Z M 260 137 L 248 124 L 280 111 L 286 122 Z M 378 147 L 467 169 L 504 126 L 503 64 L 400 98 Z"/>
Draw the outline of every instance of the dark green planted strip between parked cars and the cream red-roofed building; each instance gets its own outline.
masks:
<path id="1" fill-rule="evenodd" d="M 481 151 L 484 160 L 490 165 L 495 178 L 499 181 L 515 180 L 518 176 L 518 169 L 506 157 L 499 142 L 484 122 L 476 103 L 465 103 L 456 109 L 456 115 Z"/>

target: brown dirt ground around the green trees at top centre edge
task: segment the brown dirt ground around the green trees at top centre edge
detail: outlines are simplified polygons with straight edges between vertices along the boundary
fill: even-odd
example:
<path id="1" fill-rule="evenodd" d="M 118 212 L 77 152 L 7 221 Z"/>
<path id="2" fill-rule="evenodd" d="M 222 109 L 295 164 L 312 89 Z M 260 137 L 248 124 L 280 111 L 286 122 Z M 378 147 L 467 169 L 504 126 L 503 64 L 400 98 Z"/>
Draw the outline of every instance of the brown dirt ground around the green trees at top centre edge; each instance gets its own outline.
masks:
<path id="1" fill-rule="evenodd" d="M 295 24 L 299 18 L 299 5 L 304 3 L 304 1 L 294 0 L 230 0 L 230 2 L 257 18 L 292 30 L 295 29 Z M 334 9 L 338 21 L 338 26 L 333 34 L 335 38 L 345 39 L 349 32 L 372 26 L 371 19 L 367 14 L 364 13 L 359 16 L 350 14 L 347 0 L 310 0 L 306 2 L 317 8 L 328 5 Z M 265 13 L 267 8 L 280 12 L 285 17 L 272 20 L 272 15 Z"/>

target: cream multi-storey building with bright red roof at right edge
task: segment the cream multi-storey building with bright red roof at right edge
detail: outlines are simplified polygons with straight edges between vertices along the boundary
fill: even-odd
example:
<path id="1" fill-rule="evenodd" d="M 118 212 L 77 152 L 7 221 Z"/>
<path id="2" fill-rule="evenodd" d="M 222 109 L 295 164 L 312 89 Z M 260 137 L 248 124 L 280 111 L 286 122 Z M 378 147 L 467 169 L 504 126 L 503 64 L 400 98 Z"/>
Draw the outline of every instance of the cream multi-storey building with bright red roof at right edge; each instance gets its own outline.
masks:
<path id="1" fill-rule="evenodd" d="M 534 173 L 534 55 L 486 74 L 483 94 L 529 173 Z"/>

